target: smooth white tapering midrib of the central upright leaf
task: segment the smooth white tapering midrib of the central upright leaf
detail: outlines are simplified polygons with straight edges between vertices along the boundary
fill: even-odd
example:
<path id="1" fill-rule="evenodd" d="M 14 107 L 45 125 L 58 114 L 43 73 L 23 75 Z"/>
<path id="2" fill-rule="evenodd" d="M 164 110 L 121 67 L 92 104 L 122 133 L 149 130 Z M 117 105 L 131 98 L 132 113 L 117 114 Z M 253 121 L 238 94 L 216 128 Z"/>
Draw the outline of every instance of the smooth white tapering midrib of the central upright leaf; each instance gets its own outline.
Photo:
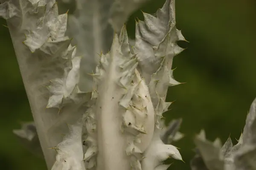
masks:
<path id="1" fill-rule="evenodd" d="M 118 43 L 115 36 L 113 43 Z M 112 46 L 119 46 L 113 44 Z M 107 75 L 99 86 L 99 101 L 96 105 L 97 128 L 98 128 L 98 164 L 97 170 L 129 170 L 130 162 L 125 154 L 126 139 L 121 133 L 122 110 L 119 100 L 123 89 L 118 87 L 119 74 L 116 71 L 118 63 L 118 51 L 112 50 Z"/>

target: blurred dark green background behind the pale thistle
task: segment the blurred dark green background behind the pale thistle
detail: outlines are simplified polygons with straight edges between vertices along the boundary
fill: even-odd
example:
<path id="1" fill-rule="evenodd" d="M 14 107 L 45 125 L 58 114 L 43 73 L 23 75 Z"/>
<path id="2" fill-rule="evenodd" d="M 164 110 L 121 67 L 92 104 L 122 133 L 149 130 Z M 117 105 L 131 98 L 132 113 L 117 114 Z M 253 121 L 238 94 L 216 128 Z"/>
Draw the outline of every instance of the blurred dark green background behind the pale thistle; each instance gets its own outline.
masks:
<path id="1" fill-rule="evenodd" d="M 152 0 L 141 9 L 152 14 L 164 1 Z M 143 20 L 141 11 L 128 21 L 131 37 L 136 17 Z M 170 169 L 190 169 L 192 140 L 202 128 L 210 140 L 225 142 L 230 134 L 233 142 L 239 138 L 256 97 L 255 17 L 255 0 L 176 0 L 177 28 L 189 43 L 179 42 L 187 49 L 174 59 L 174 77 L 186 83 L 169 88 L 167 100 L 176 101 L 165 116 L 167 122 L 183 118 L 180 131 L 186 136 L 174 145 L 186 163 L 174 161 Z M 24 149 L 12 133 L 32 115 L 8 28 L 0 26 L 0 38 L 0 167 L 46 170 L 44 160 Z"/>

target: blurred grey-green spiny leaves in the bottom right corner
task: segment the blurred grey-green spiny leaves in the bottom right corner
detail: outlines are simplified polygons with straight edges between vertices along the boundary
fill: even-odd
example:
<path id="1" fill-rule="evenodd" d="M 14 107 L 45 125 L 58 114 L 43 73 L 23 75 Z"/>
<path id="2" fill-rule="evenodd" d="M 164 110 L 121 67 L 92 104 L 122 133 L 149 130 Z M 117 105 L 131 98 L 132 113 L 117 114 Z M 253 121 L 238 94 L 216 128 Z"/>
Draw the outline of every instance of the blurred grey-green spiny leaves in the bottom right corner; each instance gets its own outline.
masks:
<path id="1" fill-rule="evenodd" d="M 199 153 L 191 162 L 192 170 L 255 170 L 256 169 L 256 99 L 246 118 L 238 143 L 230 137 L 225 144 L 209 142 L 204 131 L 195 138 Z M 202 159 L 203 161 L 199 161 Z"/>

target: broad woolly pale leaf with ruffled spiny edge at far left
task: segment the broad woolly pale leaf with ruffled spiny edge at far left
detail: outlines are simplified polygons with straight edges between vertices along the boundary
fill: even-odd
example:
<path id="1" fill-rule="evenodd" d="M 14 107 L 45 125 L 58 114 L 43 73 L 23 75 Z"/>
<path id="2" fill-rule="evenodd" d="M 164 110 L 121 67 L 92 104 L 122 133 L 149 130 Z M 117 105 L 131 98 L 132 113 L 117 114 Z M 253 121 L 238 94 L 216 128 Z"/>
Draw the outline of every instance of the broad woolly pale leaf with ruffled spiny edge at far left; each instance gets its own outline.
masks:
<path id="1" fill-rule="evenodd" d="M 67 123 L 75 123 L 85 111 L 80 99 L 85 102 L 86 96 L 77 94 L 75 80 L 79 58 L 64 36 L 67 14 L 58 15 L 55 0 L 12 0 L 0 6 L 50 169 L 56 152 L 49 148 L 61 142 Z"/>

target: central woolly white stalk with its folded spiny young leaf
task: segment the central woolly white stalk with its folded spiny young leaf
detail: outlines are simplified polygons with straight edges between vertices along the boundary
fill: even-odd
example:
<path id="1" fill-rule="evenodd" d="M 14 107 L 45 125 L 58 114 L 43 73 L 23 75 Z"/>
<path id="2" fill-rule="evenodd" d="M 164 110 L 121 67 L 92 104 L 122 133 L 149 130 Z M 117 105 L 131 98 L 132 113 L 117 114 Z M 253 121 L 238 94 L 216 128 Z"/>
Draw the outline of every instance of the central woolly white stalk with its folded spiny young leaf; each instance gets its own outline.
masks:
<path id="1" fill-rule="evenodd" d="M 107 61 L 101 60 L 104 71 L 98 73 L 104 76 L 98 84 L 96 104 L 101 151 L 97 170 L 130 170 L 153 136 L 154 109 L 148 87 L 136 70 L 137 59 L 130 52 L 125 28 L 119 39 L 115 35 L 111 52 L 103 57 Z"/>

